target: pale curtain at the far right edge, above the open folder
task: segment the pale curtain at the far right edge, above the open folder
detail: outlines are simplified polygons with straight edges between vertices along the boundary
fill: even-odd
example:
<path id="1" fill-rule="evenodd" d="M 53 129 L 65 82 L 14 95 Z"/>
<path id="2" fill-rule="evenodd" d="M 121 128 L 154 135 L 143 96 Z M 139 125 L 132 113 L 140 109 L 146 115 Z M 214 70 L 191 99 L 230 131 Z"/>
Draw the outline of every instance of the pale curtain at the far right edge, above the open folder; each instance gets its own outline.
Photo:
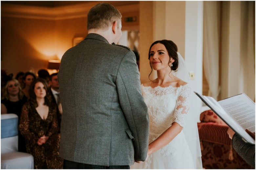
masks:
<path id="1" fill-rule="evenodd" d="M 255 101 L 255 2 L 241 3 L 240 91 Z"/>

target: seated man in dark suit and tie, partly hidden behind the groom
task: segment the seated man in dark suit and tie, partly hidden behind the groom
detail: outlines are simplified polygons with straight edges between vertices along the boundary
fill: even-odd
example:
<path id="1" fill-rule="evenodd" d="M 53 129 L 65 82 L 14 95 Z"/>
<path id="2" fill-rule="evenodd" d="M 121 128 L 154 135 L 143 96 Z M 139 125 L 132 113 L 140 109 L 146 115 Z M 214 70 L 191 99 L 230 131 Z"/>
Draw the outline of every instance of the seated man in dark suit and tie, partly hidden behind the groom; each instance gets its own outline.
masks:
<path id="1" fill-rule="evenodd" d="M 57 116 L 58 116 L 58 122 L 59 122 L 59 127 L 61 124 L 61 116 L 62 116 L 62 107 L 61 107 L 61 102 L 60 102 L 60 97 L 59 97 L 59 82 L 57 79 L 58 73 L 53 73 L 50 75 L 50 93 L 52 95 L 52 100 L 56 103 L 57 106 Z"/>

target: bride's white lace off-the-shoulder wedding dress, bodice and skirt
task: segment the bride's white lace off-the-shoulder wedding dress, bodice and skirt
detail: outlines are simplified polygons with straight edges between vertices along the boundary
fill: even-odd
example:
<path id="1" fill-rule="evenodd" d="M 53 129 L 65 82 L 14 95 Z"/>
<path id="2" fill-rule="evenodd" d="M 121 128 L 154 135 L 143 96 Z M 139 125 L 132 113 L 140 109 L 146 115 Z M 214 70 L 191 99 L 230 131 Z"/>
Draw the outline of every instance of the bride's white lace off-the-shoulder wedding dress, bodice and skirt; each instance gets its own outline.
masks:
<path id="1" fill-rule="evenodd" d="M 160 87 L 141 85 L 150 118 L 149 143 L 153 142 L 173 122 L 185 125 L 190 106 L 191 87 Z M 193 159 L 183 130 L 166 146 L 152 153 L 148 160 L 135 163 L 131 169 L 194 169 Z"/>

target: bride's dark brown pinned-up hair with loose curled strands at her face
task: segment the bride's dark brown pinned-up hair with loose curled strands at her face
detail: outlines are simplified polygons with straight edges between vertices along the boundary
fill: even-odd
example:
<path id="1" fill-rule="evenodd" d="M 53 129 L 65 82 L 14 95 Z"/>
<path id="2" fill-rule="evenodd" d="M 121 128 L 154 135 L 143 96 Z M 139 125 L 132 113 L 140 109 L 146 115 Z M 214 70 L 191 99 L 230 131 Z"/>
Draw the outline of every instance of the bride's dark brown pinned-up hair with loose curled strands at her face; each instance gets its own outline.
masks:
<path id="1" fill-rule="evenodd" d="M 178 65 L 179 65 L 178 54 L 177 54 L 177 52 L 178 52 L 178 47 L 177 47 L 177 45 L 176 45 L 173 41 L 171 41 L 171 40 L 163 39 L 163 40 L 158 40 L 158 41 L 153 42 L 153 43 L 151 44 L 150 48 L 149 48 L 148 59 L 150 58 L 150 50 L 151 50 L 152 46 L 155 45 L 155 44 L 158 44 L 158 43 L 163 44 L 163 45 L 165 46 L 165 48 L 166 48 L 166 50 L 167 50 L 167 52 L 168 52 L 168 55 L 169 55 L 169 63 L 170 63 L 170 61 L 171 61 L 171 58 L 174 59 L 174 62 L 172 63 L 172 66 L 169 66 L 169 67 L 171 68 L 171 71 L 172 71 L 172 70 L 176 71 L 177 68 L 178 68 Z M 151 73 L 152 73 L 152 71 L 153 71 L 152 66 L 151 66 L 150 63 L 149 63 L 149 65 L 150 65 L 150 68 L 151 68 L 151 72 L 150 72 L 150 74 L 148 75 L 148 78 L 149 78 L 149 76 L 151 75 Z"/>

